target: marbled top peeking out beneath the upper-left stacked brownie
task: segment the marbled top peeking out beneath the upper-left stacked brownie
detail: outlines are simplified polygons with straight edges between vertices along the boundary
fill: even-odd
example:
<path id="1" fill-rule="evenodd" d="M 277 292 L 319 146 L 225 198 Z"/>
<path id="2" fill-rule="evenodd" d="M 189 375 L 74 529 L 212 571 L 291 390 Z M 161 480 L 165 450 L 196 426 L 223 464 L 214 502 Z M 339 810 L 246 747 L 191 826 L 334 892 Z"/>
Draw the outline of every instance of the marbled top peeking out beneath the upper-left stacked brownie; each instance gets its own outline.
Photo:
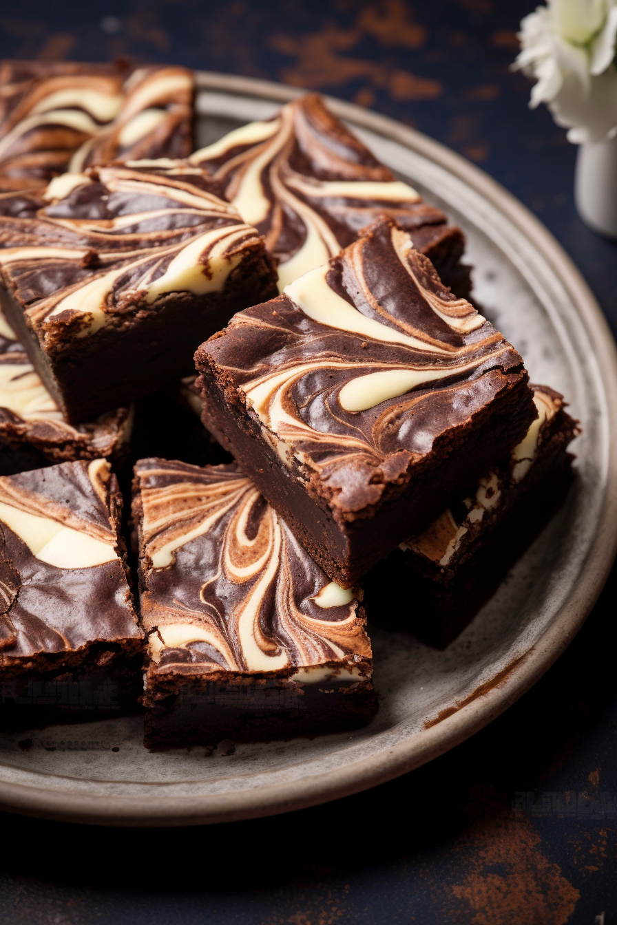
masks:
<path id="1" fill-rule="evenodd" d="M 130 438 L 132 411 L 117 408 L 93 424 L 69 425 L 43 386 L 26 351 L 0 312 L 0 437 L 43 449 L 62 448 L 84 458 L 108 456 Z"/>

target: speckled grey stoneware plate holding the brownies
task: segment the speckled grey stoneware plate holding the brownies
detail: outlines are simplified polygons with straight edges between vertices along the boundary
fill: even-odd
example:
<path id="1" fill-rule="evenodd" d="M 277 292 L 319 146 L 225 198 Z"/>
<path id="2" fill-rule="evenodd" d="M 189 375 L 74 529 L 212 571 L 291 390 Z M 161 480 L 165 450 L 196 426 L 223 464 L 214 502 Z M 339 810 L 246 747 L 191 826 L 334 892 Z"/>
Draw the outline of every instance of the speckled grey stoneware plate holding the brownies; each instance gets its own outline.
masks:
<path id="1" fill-rule="evenodd" d="M 202 144 L 270 116 L 299 92 L 199 76 Z M 559 388 L 584 425 L 568 503 L 500 592 L 445 651 L 371 631 L 381 706 L 346 735 L 150 754 L 142 720 L 0 736 L 0 807 L 120 825 L 238 820 L 307 807 L 410 771 L 474 734 L 537 681 L 586 619 L 617 537 L 617 357 L 574 265 L 537 219 L 457 154 L 412 129 L 331 100 L 377 157 L 463 226 L 486 314 L 531 378 Z M 32 745 L 19 746 L 25 738 Z"/>

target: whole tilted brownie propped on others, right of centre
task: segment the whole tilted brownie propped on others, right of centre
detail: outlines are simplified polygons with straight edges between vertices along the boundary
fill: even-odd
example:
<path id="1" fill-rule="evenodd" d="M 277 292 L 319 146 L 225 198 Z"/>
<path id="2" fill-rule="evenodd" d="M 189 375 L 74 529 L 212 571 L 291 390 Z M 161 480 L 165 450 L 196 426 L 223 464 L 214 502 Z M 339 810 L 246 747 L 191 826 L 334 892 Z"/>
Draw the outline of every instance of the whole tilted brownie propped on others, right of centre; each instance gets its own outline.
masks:
<path id="1" fill-rule="evenodd" d="M 386 218 L 195 361 L 204 424 L 343 587 L 537 416 L 520 355 Z"/>

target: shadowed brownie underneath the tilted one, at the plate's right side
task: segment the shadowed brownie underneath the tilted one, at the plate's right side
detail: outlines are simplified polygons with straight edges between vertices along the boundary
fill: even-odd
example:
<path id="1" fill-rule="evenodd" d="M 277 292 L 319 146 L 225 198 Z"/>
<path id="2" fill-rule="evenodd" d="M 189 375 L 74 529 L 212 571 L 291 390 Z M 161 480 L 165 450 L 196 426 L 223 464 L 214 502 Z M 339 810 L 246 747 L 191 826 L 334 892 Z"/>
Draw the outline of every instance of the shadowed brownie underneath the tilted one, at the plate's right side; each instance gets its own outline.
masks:
<path id="1" fill-rule="evenodd" d="M 369 619 L 449 645 L 561 506 L 579 428 L 559 392 L 531 388 L 538 417 L 521 443 L 366 575 Z"/>

